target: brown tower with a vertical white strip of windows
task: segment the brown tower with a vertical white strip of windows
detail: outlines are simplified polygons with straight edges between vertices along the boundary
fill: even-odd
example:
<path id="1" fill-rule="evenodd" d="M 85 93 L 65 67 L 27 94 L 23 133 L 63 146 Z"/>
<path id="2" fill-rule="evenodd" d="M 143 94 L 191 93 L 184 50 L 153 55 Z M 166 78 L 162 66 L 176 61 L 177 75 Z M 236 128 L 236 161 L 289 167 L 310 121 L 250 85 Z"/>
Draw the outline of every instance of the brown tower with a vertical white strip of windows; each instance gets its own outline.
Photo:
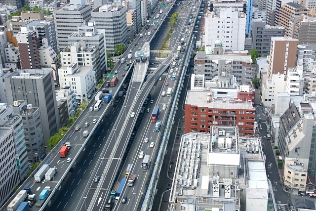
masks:
<path id="1" fill-rule="evenodd" d="M 298 40 L 287 37 L 272 37 L 269 57 L 268 78 L 272 74 L 287 75 L 288 68 L 296 65 Z"/>

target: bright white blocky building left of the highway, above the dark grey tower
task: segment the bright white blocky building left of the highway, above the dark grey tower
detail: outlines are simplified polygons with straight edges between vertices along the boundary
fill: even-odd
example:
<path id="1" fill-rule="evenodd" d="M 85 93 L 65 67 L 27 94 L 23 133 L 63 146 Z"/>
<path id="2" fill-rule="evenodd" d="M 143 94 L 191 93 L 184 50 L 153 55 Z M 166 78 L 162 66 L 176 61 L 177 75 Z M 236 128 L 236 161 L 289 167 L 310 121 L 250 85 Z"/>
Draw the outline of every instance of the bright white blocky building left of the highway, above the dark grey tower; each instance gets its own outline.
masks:
<path id="1" fill-rule="evenodd" d="M 95 72 L 92 67 L 79 66 L 74 62 L 58 69 L 60 86 L 70 86 L 74 90 L 75 101 L 83 102 L 95 91 Z"/>

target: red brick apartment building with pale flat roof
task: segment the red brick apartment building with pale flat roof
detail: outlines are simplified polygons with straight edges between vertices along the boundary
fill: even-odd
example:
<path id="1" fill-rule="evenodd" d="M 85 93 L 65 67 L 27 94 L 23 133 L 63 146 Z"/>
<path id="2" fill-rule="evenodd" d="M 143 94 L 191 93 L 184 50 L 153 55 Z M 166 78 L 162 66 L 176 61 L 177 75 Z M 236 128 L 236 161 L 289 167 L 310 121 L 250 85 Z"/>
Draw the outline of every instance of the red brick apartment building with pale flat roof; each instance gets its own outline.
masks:
<path id="1" fill-rule="evenodd" d="M 208 91 L 188 91 L 184 108 L 185 133 L 210 132 L 217 125 L 237 126 L 239 135 L 254 136 L 255 108 L 251 100 L 215 99 Z"/>

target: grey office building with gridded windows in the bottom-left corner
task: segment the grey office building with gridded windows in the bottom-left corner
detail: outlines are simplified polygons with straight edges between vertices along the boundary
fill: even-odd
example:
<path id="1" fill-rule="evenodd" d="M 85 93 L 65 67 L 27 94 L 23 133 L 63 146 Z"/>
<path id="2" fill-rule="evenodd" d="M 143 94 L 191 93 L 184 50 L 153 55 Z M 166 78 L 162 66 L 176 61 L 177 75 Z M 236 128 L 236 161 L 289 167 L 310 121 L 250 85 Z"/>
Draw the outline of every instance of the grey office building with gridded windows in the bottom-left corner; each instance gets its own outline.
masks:
<path id="1" fill-rule="evenodd" d="M 0 206 L 10 197 L 21 178 L 17 165 L 16 143 L 10 127 L 0 127 Z"/>

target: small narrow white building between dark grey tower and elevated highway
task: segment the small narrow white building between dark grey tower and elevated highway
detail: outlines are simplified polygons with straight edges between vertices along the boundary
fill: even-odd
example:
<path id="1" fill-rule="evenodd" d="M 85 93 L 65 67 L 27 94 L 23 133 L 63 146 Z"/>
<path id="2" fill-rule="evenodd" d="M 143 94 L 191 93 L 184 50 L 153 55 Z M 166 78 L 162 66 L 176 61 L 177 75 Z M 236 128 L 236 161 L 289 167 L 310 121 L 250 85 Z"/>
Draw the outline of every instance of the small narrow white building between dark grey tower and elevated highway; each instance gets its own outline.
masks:
<path id="1" fill-rule="evenodd" d="M 73 117 L 76 114 L 76 104 L 74 91 L 71 86 L 64 86 L 59 90 L 56 90 L 56 100 L 66 101 L 68 108 L 68 116 Z"/>

